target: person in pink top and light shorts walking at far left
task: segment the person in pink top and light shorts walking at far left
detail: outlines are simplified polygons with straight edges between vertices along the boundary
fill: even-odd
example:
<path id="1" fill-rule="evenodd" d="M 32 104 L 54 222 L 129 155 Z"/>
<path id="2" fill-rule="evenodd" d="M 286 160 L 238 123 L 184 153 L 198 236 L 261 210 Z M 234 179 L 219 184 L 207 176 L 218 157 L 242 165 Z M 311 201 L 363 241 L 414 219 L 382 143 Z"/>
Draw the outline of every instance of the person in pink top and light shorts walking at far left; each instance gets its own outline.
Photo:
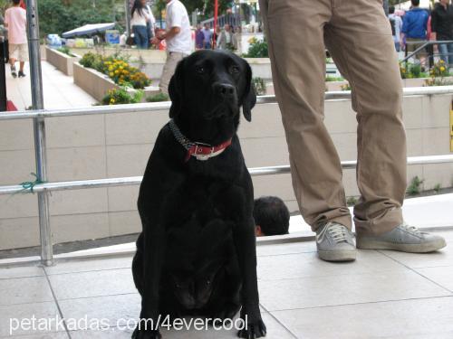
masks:
<path id="1" fill-rule="evenodd" d="M 24 77 L 24 64 L 28 57 L 26 34 L 26 11 L 21 0 L 13 0 L 13 6 L 5 11 L 5 27 L 8 28 L 9 63 L 11 75 L 17 77 L 15 61 L 20 62 L 19 78 Z"/>

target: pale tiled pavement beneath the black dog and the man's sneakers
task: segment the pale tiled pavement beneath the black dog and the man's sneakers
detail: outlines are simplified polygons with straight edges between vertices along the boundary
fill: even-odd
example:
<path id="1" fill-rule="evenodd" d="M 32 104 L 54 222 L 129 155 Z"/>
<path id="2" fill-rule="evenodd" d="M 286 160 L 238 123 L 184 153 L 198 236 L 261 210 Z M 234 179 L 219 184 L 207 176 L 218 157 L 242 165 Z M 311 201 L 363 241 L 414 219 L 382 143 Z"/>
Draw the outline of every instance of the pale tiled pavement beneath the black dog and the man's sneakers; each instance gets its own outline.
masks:
<path id="1" fill-rule="evenodd" d="M 260 244 L 258 278 L 267 338 L 453 338 L 453 231 L 430 254 L 360 250 L 352 263 L 316 257 L 314 242 Z M 52 268 L 0 268 L 0 338 L 10 318 L 105 319 L 105 331 L 14 331 L 14 338 L 130 338 L 140 297 L 131 255 L 60 260 Z M 69 320 L 68 320 L 69 321 Z M 13 324 L 15 324 L 13 322 Z M 84 323 L 82 323 L 83 326 Z M 120 323 L 120 325 L 123 323 Z M 67 323 L 70 325 L 70 323 Z M 73 325 L 73 324 L 72 324 Z M 235 338 L 235 331 L 163 330 L 164 338 Z M 28 334 L 28 335 L 25 335 Z M 25 335 L 25 336 L 22 336 Z"/>

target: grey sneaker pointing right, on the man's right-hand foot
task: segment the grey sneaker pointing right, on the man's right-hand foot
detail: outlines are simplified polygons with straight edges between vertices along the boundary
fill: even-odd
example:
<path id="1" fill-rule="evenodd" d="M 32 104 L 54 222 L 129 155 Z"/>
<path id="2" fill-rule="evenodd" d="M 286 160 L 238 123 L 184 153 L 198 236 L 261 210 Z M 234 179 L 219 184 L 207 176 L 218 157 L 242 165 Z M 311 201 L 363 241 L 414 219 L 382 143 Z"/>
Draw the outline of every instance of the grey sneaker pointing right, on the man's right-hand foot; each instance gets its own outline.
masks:
<path id="1" fill-rule="evenodd" d="M 447 246 L 445 239 L 419 231 L 414 226 L 402 223 L 395 229 L 379 236 L 357 235 L 357 248 L 363 250 L 400 250 L 410 253 L 428 253 Z"/>

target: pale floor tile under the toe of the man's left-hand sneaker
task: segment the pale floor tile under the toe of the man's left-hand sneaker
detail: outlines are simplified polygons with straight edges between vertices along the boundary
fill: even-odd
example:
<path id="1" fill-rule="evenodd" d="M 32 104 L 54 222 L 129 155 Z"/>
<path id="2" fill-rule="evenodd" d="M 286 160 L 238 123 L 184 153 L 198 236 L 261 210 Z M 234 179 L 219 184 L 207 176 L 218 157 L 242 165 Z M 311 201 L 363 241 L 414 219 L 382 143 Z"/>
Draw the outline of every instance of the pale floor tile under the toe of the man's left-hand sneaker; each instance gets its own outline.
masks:
<path id="1" fill-rule="evenodd" d="M 374 250 L 361 250 L 353 262 L 332 263 L 315 252 L 258 258 L 258 279 L 313 278 L 406 269 Z"/>

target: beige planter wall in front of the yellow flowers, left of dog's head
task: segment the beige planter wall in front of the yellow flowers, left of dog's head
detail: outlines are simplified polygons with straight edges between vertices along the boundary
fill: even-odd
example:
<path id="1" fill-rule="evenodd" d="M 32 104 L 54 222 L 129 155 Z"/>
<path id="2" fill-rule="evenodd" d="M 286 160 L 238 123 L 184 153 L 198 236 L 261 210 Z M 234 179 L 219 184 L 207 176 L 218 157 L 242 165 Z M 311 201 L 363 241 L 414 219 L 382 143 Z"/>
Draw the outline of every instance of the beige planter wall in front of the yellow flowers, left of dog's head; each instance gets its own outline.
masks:
<path id="1" fill-rule="evenodd" d="M 99 71 L 83 67 L 79 62 L 75 62 L 73 66 L 74 83 L 90 94 L 94 99 L 102 101 L 111 89 L 120 89 L 113 80 L 107 75 Z M 134 91 L 135 89 L 130 89 Z M 144 95 L 141 102 L 146 102 L 146 98 L 150 95 L 159 93 L 159 89 L 155 87 L 147 87 L 143 89 Z"/>

